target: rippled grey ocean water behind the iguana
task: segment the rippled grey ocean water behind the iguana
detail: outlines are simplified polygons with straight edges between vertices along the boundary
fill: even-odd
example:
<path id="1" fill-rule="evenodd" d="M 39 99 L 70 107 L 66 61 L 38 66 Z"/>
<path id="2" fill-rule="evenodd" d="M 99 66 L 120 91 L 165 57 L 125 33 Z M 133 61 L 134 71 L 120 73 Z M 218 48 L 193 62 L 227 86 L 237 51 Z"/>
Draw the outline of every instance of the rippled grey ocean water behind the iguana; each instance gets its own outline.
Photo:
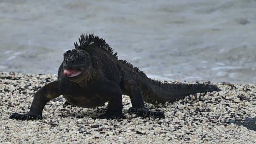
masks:
<path id="1" fill-rule="evenodd" d="M 256 83 L 255 0 L 0 0 L 0 71 L 56 74 L 82 33 L 151 78 Z"/>

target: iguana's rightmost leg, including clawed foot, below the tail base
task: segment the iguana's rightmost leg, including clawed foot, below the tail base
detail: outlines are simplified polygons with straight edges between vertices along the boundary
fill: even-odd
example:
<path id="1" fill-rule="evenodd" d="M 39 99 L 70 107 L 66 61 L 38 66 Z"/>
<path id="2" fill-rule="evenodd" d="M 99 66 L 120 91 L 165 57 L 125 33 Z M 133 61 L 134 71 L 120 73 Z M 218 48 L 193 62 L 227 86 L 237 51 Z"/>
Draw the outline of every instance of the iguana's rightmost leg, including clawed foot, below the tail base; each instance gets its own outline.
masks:
<path id="1" fill-rule="evenodd" d="M 140 92 L 139 86 L 135 83 L 132 78 L 122 78 L 122 90 L 125 94 L 129 95 L 132 108 L 129 108 L 129 113 L 135 113 L 137 116 L 140 117 L 155 117 L 155 118 L 164 118 L 163 112 L 152 112 L 149 108 L 144 106 L 144 101 Z"/>

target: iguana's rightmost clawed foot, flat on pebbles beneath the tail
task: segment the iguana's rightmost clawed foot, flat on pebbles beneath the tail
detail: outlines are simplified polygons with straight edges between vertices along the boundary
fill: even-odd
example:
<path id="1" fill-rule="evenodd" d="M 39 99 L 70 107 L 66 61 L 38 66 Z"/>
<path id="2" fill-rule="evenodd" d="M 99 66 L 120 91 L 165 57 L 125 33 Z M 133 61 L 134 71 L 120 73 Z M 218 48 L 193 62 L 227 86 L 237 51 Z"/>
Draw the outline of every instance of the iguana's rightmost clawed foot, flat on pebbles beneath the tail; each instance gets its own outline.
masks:
<path id="1" fill-rule="evenodd" d="M 151 117 L 154 118 L 165 118 L 164 112 L 153 112 L 149 108 L 129 108 L 128 113 L 136 114 L 136 116 L 140 116 L 143 118 Z"/>

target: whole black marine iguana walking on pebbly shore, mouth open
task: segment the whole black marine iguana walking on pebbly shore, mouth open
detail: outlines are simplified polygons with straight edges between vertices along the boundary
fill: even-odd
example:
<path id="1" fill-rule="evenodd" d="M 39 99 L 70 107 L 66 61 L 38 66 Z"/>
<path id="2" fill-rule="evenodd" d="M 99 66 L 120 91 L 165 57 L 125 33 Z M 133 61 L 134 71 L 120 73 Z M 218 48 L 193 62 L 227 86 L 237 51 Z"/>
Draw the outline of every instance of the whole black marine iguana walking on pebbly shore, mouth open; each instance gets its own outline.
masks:
<path id="1" fill-rule="evenodd" d="M 80 35 L 79 45 L 65 52 L 58 70 L 58 80 L 46 84 L 34 96 L 27 114 L 13 113 L 11 119 L 42 119 L 45 104 L 60 96 L 68 103 L 92 108 L 108 102 L 108 109 L 99 118 L 122 117 L 122 94 L 132 102 L 129 113 L 142 117 L 164 118 L 163 112 L 153 112 L 144 106 L 173 102 L 196 92 L 218 90 L 211 84 L 169 84 L 150 79 L 126 60 L 118 60 L 117 53 L 104 39 L 94 34 Z"/>

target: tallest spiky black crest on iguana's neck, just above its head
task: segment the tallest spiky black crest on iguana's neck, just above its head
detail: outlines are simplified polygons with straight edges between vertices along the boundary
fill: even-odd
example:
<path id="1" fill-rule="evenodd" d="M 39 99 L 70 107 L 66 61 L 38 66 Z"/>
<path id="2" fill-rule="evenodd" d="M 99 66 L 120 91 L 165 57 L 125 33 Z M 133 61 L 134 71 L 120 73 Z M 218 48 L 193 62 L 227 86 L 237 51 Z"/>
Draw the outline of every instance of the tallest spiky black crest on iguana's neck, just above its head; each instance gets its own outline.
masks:
<path id="1" fill-rule="evenodd" d="M 114 57 L 117 57 L 117 52 L 114 53 L 113 49 L 106 43 L 106 41 L 103 38 L 100 38 L 99 36 L 92 34 L 82 34 L 80 35 L 80 38 L 78 38 L 79 44 L 74 43 L 76 49 L 83 49 L 86 50 L 91 44 L 95 44 L 98 47 L 100 47 L 102 50 L 109 52 Z"/>

